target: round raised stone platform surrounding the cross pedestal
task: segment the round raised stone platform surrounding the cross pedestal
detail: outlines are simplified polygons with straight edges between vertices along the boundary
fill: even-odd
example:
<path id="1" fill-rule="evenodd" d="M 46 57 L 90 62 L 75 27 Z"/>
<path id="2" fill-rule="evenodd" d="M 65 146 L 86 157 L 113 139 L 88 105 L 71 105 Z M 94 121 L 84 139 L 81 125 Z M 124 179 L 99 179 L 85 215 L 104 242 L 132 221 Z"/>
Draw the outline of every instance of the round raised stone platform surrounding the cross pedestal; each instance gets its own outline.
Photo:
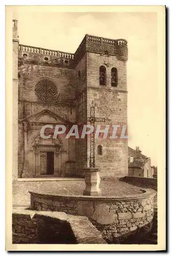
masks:
<path id="1" fill-rule="evenodd" d="M 100 188 L 102 196 L 83 196 L 84 180 L 54 181 L 29 191 L 31 209 L 86 216 L 108 243 L 142 237 L 152 226 L 156 191 L 115 179 L 101 180 Z"/>

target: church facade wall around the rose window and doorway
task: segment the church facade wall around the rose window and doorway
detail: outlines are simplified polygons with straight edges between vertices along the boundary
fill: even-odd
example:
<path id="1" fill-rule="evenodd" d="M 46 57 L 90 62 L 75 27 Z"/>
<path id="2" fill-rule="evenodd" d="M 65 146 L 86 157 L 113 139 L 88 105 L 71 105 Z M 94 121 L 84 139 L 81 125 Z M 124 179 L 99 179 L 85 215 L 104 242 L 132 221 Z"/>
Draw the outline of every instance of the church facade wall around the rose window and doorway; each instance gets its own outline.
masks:
<path id="1" fill-rule="evenodd" d="M 42 79 L 52 81 L 58 91 L 58 98 L 56 102 L 41 102 L 35 94 L 35 86 L 37 82 Z M 51 67 L 44 65 L 35 65 L 33 63 L 24 62 L 19 67 L 19 84 L 18 84 L 18 177 L 33 177 L 39 176 L 36 164 L 36 152 L 34 138 L 40 135 L 40 129 L 44 124 L 64 124 L 67 122 L 75 122 L 75 70 Z M 40 114 L 42 111 L 49 111 L 48 113 Z M 60 118 L 52 118 L 53 114 L 57 114 Z M 33 118 L 29 119 L 30 116 Z M 27 153 L 25 153 L 25 139 L 23 131 L 23 123 L 20 120 L 25 120 L 28 125 L 27 130 Z M 51 143 L 50 143 L 51 145 Z M 52 144 L 52 146 L 54 146 Z M 47 151 L 47 150 L 44 150 Z M 57 176 L 72 176 L 75 174 L 76 167 L 72 164 L 73 170 L 69 165 L 67 173 L 65 174 L 65 165 L 67 161 L 75 161 L 75 141 L 63 141 L 60 152 L 55 151 L 54 159 L 58 163 L 58 167 L 54 167 L 54 175 Z M 27 167 L 26 167 L 26 161 Z M 25 163 L 25 167 L 24 167 Z M 55 165 L 55 164 L 54 164 Z M 55 169 L 56 168 L 56 169 Z M 25 170 L 23 170 L 25 169 Z M 23 172 L 25 172 L 23 174 Z"/>

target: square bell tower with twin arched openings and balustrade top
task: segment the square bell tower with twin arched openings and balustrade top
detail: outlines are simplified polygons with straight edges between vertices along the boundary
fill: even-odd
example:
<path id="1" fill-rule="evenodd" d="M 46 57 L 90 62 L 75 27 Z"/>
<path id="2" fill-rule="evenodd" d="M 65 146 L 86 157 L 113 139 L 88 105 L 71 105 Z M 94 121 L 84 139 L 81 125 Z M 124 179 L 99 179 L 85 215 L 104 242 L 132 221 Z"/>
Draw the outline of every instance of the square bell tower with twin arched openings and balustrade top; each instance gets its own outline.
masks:
<path id="1" fill-rule="evenodd" d="M 83 58 L 86 79 L 85 87 L 83 88 L 83 84 L 79 86 L 85 94 L 85 100 L 82 100 L 83 104 L 80 105 L 80 111 L 84 111 L 84 114 L 80 114 L 81 120 L 85 123 L 94 109 L 94 131 L 97 125 L 101 125 L 100 133 L 103 135 L 106 125 L 110 128 L 112 125 L 118 125 L 121 135 L 123 125 L 127 129 L 127 40 L 85 35 L 75 53 L 75 61 L 81 59 L 83 62 Z M 127 135 L 127 131 L 124 135 Z M 82 143 L 78 152 L 82 158 L 84 156 L 84 167 L 89 167 L 93 156 L 95 167 L 101 170 L 101 177 L 128 175 L 128 137 L 118 136 L 115 139 L 101 136 L 95 138 L 93 143 L 90 143 L 90 137 L 87 137 L 87 140 L 79 143 Z M 86 154 L 83 154 L 84 152 Z M 78 158 L 80 159 L 80 155 Z"/>

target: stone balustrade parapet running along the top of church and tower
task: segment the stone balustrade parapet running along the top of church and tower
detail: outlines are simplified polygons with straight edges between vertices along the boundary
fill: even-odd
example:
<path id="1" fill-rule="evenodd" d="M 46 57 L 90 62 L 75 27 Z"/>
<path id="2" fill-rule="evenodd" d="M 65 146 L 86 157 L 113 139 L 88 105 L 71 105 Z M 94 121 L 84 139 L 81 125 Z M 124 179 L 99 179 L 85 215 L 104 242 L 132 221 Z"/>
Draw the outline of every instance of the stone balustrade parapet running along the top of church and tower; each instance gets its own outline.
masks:
<path id="1" fill-rule="evenodd" d="M 127 61 L 127 45 L 128 42 L 125 39 L 109 39 L 104 37 L 85 35 L 75 54 L 27 45 L 19 45 L 18 50 L 19 57 L 25 58 L 25 62 L 34 61 L 35 63 L 44 63 L 46 61 L 46 65 L 70 66 L 70 68 L 73 68 L 77 65 L 86 51 L 115 55 L 119 60 Z M 64 63 L 57 61 L 57 59 L 64 59 Z"/>

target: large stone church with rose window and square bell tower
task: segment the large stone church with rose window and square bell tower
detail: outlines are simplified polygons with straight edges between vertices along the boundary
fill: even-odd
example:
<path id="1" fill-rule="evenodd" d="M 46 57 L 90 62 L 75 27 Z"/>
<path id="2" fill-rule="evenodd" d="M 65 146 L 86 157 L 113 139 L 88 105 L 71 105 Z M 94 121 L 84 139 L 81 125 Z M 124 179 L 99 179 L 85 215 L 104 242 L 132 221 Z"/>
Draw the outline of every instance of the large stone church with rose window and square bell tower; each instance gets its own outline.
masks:
<path id="1" fill-rule="evenodd" d="M 18 178 L 84 177 L 90 138 L 42 139 L 40 129 L 45 124 L 86 124 L 91 106 L 95 117 L 110 119 L 102 125 L 127 124 L 127 60 L 125 39 L 86 34 L 75 53 L 21 45 L 13 20 Z M 95 139 L 93 154 L 101 177 L 128 175 L 128 140 Z"/>

